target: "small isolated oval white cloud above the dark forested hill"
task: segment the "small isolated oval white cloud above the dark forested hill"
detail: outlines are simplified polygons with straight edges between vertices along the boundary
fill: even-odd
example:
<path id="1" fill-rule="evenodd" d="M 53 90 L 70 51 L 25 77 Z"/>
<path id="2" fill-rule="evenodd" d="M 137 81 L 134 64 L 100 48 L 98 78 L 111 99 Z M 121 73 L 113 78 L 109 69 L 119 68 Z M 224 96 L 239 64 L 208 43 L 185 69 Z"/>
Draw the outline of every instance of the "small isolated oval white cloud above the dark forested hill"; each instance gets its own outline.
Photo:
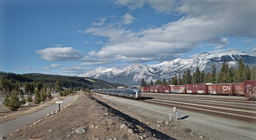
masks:
<path id="1" fill-rule="evenodd" d="M 37 50 L 40 58 L 47 61 L 81 61 L 85 56 L 72 47 L 50 47 Z"/>

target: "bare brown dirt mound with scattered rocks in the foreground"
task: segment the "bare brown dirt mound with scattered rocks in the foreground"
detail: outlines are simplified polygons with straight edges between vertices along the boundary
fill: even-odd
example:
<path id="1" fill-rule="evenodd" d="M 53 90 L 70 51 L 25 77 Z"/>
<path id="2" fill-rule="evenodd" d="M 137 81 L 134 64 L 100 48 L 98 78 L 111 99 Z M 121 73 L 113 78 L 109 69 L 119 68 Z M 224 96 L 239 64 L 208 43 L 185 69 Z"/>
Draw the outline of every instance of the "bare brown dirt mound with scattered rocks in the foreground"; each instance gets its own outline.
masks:
<path id="1" fill-rule="evenodd" d="M 29 124 L 7 135 L 7 140 L 28 139 L 79 139 L 79 140 L 139 140 L 139 139 L 162 139 L 162 140 L 197 140 L 199 138 L 190 136 L 184 131 L 172 129 L 174 123 L 165 125 L 157 123 L 156 120 L 143 115 L 128 112 L 121 106 L 109 106 L 97 100 L 96 96 L 87 96 L 78 93 L 79 97 L 72 104 L 63 108 L 59 113 L 50 117 L 42 118 L 37 125 Z M 100 98 L 99 98 L 100 99 Z M 107 113 L 108 115 L 104 115 Z M 129 113 L 129 115 L 128 115 Z M 122 124 L 126 124 L 121 128 Z M 92 126 L 94 125 L 94 126 Z M 160 127 L 156 127 L 160 125 Z M 32 126 L 32 127 L 30 127 Z M 87 127 L 84 134 L 72 133 L 78 127 Z M 128 133 L 133 130 L 133 134 Z"/>

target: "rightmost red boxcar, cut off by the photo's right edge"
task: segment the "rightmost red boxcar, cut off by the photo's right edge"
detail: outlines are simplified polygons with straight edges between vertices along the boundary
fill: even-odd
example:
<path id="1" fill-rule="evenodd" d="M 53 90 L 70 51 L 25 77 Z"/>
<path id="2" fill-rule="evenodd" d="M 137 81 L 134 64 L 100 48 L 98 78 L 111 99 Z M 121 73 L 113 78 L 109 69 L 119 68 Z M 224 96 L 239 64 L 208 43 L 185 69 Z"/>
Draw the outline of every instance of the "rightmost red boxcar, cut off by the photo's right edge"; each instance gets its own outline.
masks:
<path id="1" fill-rule="evenodd" d="M 256 100 L 256 80 L 243 81 L 245 87 L 245 98 Z"/>

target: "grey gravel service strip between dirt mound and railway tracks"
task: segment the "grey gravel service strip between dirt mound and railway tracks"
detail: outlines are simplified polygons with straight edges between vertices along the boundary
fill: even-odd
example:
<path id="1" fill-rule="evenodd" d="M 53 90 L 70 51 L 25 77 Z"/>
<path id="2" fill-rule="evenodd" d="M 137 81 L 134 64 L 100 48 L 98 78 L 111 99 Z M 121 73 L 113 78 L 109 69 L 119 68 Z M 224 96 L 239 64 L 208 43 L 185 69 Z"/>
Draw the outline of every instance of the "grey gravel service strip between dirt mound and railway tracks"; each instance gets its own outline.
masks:
<path id="1" fill-rule="evenodd" d="M 158 121 L 168 121 L 170 113 L 171 117 L 174 116 L 173 108 L 126 98 L 102 96 L 105 100 L 130 108 L 131 113 L 139 113 Z M 183 117 L 175 123 L 177 129 L 190 128 L 192 129 L 191 134 L 195 136 L 204 136 L 204 138 L 211 140 L 255 140 L 256 138 L 256 124 L 180 110 L 179 108 L 177 110 L 181 112 L 180 115 Z"/>

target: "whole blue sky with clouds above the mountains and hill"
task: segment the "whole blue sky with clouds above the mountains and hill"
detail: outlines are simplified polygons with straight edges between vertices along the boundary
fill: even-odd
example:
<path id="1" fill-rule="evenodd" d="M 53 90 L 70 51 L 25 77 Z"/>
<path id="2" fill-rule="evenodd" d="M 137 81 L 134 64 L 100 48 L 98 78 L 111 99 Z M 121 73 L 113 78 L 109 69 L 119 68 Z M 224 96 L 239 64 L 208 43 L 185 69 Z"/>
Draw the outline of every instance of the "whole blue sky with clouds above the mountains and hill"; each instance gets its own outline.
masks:
<path id="1" fill-rule="evenodd" d="M 255 0 L 2 0 L 0 71 L 77 76 L 256 51 Z"/>

